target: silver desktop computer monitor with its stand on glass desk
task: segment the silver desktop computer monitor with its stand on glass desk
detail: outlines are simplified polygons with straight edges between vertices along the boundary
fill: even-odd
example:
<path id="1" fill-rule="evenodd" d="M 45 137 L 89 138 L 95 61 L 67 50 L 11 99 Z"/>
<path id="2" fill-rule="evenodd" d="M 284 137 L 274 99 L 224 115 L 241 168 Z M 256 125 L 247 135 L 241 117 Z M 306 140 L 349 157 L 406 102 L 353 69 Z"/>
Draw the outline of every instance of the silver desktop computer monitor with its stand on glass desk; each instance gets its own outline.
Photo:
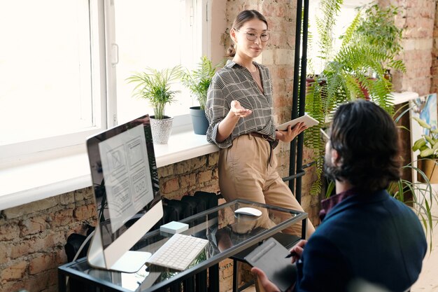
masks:
<path id="1" fill-rule="evenodd" d="M 87 139 L 98 222 L 92 267 L 136 272 L 150 253 L 129 251 L 163 216 L 149 116 Z"/>

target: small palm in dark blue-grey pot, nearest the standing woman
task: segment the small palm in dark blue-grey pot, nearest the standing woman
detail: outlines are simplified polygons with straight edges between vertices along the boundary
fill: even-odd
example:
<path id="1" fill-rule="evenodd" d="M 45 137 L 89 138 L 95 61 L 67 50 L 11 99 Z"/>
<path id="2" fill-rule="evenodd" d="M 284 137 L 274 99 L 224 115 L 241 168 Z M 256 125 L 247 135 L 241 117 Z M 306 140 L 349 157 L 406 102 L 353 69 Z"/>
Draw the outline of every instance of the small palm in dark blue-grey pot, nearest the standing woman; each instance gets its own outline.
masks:
<path id="1" fill-rule="evenodd" d="M 213 66 L 208 57 L 202 56 L 196 69 L 192 71 L 186 69 L 181 73 L 181 83 L 190 90 L 192 95 L 195 95 L 199 102 L 199 106 L 190 107 L 190 116 L 192 116 L 195 134 L 205 135 L 209 127 L 209 121 L 205 116 L 207 91 L 219 65 Z"/>

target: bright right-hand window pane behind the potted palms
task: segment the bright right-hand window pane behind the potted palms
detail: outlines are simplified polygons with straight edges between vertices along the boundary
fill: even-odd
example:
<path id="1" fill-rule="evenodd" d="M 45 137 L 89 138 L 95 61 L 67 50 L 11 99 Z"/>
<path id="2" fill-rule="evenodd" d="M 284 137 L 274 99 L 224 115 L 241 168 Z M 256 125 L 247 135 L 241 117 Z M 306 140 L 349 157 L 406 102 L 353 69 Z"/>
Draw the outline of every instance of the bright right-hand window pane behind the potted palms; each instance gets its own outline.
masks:
<path id="1" fill-rule="evenodd" d="M 114 1 L 115 43 L 114 58 L 115 88 L 117 93 L 117 117 L 122 123 L 148 112 L 153 115 L 146 99 L 132 97 L 134 84 L 127 84 L 126 78 L 134 71 L 146 67 L 164 69 L 177 64 L 189 67 L 196 64 L 201 55 L 200 42 L 195 37 L 193 18 L 195 9 L 191 1 Z M 162 13 L 157 13 L 162 11 Z M 119 21 L 122 20 L 122 21 Z M 118 53 L 117 53 L 118 51 Z M 182 86 L 174 104 L 166 107 L 168 116 L 188 113 L 193 99 Z"/>

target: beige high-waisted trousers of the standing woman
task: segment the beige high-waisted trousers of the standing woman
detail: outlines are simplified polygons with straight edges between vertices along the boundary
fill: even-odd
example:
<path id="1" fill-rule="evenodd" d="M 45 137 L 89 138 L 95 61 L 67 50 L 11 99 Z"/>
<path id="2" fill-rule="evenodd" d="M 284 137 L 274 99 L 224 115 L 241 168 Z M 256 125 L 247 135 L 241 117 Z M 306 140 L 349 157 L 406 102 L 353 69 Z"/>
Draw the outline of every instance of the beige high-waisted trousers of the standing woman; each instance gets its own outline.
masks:
<path id="1" fill-rule="evenodd" d="M 220 193 L 227 202 L 243 199 L 303 211 L 288 185 L 276 171 L 276 167 L 276 156 L 271 153 L 268 141 L 248 134 L 241 135 L 233 140 L 232 146 L 220 150 Z M 265 225 L 269 227 L 269 223 Z M 315 228 L 309 220 L 306 225 L 308 239 Z M 301 236 L 301 230 L 300 221 L 283 232 Z"/>

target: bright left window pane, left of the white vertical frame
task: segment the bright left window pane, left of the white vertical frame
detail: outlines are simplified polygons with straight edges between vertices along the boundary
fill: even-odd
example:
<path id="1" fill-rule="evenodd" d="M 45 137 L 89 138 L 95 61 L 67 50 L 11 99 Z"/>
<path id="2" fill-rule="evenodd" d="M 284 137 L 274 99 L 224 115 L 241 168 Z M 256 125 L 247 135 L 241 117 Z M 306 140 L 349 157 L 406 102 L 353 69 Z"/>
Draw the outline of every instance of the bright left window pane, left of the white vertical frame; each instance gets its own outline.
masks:
<path id="1" fill-rule="evenodd" d="M 18 0 L 0 6 L 1 158 L 58 146 L 52 137 L 77 139 L 78 131 L 99 127 L 92 110 L 97 102 L 87 1 Z M 64 141 L 74 143 L 71 139 Z"/>

